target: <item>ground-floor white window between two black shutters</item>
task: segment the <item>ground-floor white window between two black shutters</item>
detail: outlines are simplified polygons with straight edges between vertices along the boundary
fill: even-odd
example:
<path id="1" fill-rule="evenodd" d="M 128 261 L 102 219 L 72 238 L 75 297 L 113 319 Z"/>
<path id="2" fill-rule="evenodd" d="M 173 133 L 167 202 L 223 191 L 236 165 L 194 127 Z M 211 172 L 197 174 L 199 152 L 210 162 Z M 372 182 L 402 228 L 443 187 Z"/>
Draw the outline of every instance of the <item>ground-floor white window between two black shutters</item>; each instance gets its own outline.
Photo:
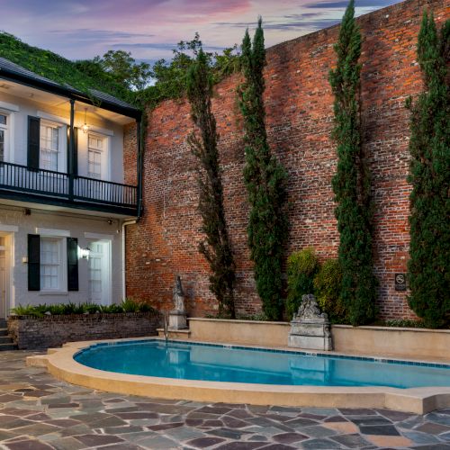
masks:
<path id="1" fill-rule="evenodd" d="M 61 238 L 40 238 L 40 289 L 60 291 L 62 289 L 62 242 Z"/>

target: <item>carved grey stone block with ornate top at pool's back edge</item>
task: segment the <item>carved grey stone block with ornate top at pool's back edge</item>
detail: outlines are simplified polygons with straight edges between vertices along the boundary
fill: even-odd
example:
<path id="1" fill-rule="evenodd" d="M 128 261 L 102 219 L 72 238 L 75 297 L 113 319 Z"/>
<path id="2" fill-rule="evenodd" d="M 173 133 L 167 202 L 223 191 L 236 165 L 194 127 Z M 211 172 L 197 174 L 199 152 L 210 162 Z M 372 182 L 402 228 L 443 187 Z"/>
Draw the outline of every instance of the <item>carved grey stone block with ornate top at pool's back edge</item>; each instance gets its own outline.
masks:
<path id="1" fill-rule="evenodd" d="M 293 316 L 288 347 L 305 350 L 333 349 L 329 319 L 321 313 L 313 295 L 303 295 L 298 314 Z"/>

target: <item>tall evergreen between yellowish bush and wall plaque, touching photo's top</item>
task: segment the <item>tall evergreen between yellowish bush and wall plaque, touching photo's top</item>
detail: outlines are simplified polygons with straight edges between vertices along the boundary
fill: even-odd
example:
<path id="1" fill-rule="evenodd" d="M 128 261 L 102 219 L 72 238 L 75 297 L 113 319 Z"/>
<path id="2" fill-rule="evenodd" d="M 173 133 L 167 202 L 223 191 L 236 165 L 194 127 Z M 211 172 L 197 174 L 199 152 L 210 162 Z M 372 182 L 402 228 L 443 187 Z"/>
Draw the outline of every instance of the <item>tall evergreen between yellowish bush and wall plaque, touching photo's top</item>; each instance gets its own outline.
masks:
<path id="1" fill-rule="evenodd" d="M 333 139 L 338 144 L 338 169 L 332 180 L 340 235 L 342 301 L 353 325 L 374 320 L 377 281 L 372 255 L 370 175 L 365 164 L 360 121 L 361 33 L 350 0 L 335 45 L 338 65 L 329 73 L 334 101 Z"/>

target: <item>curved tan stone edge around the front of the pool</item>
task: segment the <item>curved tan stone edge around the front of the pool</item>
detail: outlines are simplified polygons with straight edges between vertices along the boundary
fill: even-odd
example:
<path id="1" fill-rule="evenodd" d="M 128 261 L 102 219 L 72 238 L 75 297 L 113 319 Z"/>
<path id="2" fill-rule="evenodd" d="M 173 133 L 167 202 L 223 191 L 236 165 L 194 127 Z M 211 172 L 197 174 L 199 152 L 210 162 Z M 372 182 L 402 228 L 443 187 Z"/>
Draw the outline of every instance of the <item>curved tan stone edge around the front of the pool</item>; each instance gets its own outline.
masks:
<path id="1" fill-rule="evenodd" d="M 155 338 L 152 338 L 155 339 Z M 117 339 L 116 342 L 136 339 Z M 377 408 L 425 414 L 450 407 L 450 387 L 397 389 L 391 387 L 288 386 L 158 378 L 106 372 L 76 362 L 81 349 L 105 340 L 71 342 L 29 356 L 27 365 L 45 366 L 59 380 L 105 392 L 169 400 L 248 403 L 316 408 Z"/>

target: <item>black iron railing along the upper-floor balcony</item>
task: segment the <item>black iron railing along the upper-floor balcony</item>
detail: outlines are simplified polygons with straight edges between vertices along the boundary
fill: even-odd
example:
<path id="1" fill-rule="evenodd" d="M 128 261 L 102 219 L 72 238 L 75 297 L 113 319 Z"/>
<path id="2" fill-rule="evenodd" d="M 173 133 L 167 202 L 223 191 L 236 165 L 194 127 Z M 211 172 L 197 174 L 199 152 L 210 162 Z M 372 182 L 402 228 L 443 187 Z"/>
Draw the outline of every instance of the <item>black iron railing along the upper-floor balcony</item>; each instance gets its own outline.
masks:
<path id="1" fill-rule="evenodd" d="M 0 190 L 134 208 L 137 187 L 0 162 Z"/>

